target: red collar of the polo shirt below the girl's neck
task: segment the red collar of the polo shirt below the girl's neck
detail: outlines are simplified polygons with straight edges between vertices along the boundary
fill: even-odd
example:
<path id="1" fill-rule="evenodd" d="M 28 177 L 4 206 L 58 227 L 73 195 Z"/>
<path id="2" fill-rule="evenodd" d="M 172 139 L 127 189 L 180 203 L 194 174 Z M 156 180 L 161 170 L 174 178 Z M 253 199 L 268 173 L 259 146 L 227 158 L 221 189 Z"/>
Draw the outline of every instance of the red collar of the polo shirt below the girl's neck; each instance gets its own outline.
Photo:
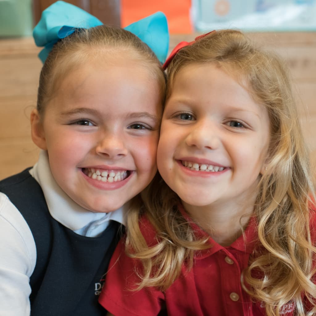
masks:
<path id="1" fill-rule="evenodd" d="M 235 250 L 238 250 L 240 252 L 246 252 L 249 254 L 253 252 L 256 241 L 258 240 L 257 221 L 254 216 L 250 217 L 250 220 L 244 231 L 244 234 L 241 235 L 239 238 L 237 238 L 230 246 L 224 247 L 224 246 L 219 245 L 215 240 L 213 240 L 210 237 L 208 233 L 206 233 L 201 227 L 199 227 L 195 222 L 193 222 L 191 217 L 184 210 L 184 207 L 182 204 L 179 205 L 179 210 L 182 216 L 184 216 L 185 219 L 190 223 L 191 228 L 194 230 L 194 233 L 197 239 L 201 239 L 205 237 L 209 239 L 209 243 L 211 245 L 210 249 L 199 252 L 196 258 L 202 259 L 214 254 L 215 252 L 219 250 L 227 249 L 227 248 L 234 248 Z"/>

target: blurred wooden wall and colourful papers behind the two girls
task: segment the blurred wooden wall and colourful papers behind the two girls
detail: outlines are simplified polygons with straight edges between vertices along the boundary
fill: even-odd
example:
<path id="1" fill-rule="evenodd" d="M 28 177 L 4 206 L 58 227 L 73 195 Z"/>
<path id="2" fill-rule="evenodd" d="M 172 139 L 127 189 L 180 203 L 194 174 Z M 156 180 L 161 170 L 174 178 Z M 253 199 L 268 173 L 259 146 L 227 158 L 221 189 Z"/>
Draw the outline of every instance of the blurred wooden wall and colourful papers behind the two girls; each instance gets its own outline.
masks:
<path id="1" fill-rule="evenodd" d="M 32 29 L 53 0 L 0 0 L 0 179 L 32 166 L 30 137 L 41 62 Z M 292 72 L 316 184 L 316 0 L 71 0 L 103 23 L 125 27 L 167 15 L 170 49 L 213 29 L 239 28 L 279 53 Z"/>

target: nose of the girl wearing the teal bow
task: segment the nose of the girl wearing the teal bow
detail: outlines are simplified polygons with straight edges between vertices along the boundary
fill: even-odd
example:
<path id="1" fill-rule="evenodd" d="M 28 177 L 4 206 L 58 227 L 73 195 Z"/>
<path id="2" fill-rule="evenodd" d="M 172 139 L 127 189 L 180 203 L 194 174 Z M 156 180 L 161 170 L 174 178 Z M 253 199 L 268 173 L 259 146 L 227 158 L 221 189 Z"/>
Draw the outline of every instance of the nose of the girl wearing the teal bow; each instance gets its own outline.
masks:
<path id="1" fill-rule="evenodd" d="M 98 155 L 112 160 L 121 159 L 128 153 L 124 137 L 116 132 L 102 133 L 95 150 Z"/>

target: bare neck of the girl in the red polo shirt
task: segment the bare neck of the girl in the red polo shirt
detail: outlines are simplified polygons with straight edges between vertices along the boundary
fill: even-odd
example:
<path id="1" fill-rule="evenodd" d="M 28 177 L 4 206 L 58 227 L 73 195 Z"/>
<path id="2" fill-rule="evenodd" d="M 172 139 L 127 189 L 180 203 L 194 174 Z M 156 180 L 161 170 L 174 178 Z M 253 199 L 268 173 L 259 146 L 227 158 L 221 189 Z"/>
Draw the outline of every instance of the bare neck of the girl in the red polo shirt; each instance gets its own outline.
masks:
<path id="1" fill-rule="evenodd" d="M 182 201 L 185 210 L 220 245 L 229 246 L 240 237 L 252 216 L 255 197 L 239 201 L 193 206 Z"/>

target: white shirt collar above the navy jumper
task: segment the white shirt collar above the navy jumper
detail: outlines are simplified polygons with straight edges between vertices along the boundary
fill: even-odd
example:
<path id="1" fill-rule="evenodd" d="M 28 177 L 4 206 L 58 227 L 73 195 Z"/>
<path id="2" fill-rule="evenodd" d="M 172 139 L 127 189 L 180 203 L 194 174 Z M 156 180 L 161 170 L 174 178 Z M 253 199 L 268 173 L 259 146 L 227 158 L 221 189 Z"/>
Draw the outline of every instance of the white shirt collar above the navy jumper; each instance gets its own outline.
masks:
<path id="1" fill-rule="evenodd" d="M 67 228 L 78 230 L 102 218 L 125 225 L 126 204 L 110 213 L 94 213 L 73 201 L 55 181 L 49 166 L 47 151 L 41 150 L 39 160 L 30 173 L 43 190 L 51 216 Z"/>

